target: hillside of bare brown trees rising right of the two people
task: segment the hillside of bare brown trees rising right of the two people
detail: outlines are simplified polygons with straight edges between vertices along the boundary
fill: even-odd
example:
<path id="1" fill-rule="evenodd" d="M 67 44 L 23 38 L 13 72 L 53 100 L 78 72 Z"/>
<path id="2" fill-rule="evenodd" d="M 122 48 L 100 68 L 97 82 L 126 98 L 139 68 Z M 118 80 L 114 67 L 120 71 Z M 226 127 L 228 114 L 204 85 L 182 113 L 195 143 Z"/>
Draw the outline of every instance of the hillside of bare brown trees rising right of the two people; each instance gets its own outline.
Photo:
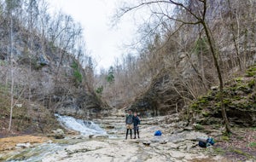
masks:
<path id="1" fill-rule="evenodd" d="M 102 86 L 102 97 L 113 106 L 133 102 L 132 108 L 152 115 L 181 111 L 218 86 L 219 77 L 226 83 L 255 64 L 255 5 L 238 0 L 125 3 L 115 19 L 140 9 L 151 15 L 144 15 L 131 53 L 102 71 L 96 87 Z M 112 82 L 105 79 L 112 75 Z"/>

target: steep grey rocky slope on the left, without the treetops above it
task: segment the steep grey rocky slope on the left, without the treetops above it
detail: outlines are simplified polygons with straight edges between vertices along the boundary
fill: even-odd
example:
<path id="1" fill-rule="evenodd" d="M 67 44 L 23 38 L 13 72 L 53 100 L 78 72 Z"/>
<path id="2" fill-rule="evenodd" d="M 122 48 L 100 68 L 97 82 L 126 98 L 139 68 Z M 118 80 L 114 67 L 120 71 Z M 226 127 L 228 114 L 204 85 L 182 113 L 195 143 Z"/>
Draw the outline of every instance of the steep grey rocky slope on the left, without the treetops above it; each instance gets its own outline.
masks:
<path id="1" fill-rule="evenodd" d="M 4 42 L 0 47 L 1 135 L 9 124 L 12 80 L 13 132 L 48 132 L 58 127 L 54 113 L 91 119 L 108 111 L 108 105 L 90 85 L 93 72 L 87 72 L 76 55 L 46 41 L 37 32 L 27 31 L 18 20 L 14 19 L 13 28 L 11 57 L 9 26 L 0 26 L 0 41 Z M 22 106 L 18 108 L 17 104 Z"/>

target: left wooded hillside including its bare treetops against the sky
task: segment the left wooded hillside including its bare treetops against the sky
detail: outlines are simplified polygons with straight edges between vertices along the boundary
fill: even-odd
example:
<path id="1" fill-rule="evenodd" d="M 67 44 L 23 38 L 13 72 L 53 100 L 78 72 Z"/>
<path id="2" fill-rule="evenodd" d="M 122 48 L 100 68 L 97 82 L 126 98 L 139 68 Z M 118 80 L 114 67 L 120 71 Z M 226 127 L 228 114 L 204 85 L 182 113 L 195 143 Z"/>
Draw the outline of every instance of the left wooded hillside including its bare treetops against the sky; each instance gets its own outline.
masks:
<path id="1" fill-rule="evenodd" d="M 54 113 L 99 115 L 107 105 L 94 92 L 79 23 L 49 14 L 44 0 L 0 3 L 0 132 L 50 131 L 58 125 Z"/>

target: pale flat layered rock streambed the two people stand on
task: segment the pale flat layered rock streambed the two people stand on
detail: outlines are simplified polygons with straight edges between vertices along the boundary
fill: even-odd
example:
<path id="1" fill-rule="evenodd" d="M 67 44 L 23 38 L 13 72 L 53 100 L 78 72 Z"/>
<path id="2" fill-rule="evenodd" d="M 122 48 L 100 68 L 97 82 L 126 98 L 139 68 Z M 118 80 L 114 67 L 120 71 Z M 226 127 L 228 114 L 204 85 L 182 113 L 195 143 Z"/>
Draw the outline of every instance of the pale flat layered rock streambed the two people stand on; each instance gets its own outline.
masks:
<path id="1" fill-rule="evenodd" d="M 173 120 L 166 124 L 166 118 Z M 142 119 L 140 139 L 125 140 L 125 117 L 116 114 L 94 122 L 106 131 L 97 135 L 69 135 L 13 151 L 0 152 L 2 161 L 234 161 L 219 155 L 216 149 L 200 148 L 195 138 L 208 136 L 178 122 L 177 115 Z M 161 130 L 162 136 L 154 136 Z M 210 135 L 218 136 L 215 130 Z M 235 160 L 236 161 L 236 160 Z"/>

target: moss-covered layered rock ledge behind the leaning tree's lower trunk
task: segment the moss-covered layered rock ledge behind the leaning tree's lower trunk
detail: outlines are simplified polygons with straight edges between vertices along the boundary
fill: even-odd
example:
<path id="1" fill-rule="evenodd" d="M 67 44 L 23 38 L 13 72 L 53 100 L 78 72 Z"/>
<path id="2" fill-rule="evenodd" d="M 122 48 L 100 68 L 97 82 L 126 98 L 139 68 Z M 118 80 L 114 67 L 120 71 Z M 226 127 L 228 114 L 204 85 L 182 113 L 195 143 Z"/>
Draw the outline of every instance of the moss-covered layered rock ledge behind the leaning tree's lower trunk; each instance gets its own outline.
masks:
<path id="1" fill-rule="evenodd" d="M 225 84 L 224 107 L 231 124 L 256 126 L 256 66 L 250 67 L 244 77 Z M 212 88 L 189 109 L 191 121 L 200 124 L 220 124 L 222 115 L 218 88 Z M 189 115 L 189 114 L 188 114 Z"/>

